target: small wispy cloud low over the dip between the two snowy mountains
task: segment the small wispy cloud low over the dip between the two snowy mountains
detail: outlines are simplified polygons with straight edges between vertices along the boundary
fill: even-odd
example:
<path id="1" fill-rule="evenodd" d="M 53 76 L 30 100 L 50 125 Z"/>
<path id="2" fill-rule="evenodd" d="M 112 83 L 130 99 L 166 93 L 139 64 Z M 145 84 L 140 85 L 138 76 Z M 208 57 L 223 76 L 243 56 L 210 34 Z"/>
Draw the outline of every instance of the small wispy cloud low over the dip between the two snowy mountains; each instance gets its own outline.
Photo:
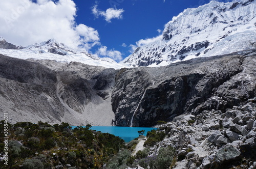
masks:
<path id="1" fill-rule="evenodd" d="M 97 54 L 100 55 L 101 57 L 109 57 L 112 58 L 115 61 L 121 61 L 122 60 L 122 53 L 118 50 L 108 50 L 106 46 L 101 46 Z"/>

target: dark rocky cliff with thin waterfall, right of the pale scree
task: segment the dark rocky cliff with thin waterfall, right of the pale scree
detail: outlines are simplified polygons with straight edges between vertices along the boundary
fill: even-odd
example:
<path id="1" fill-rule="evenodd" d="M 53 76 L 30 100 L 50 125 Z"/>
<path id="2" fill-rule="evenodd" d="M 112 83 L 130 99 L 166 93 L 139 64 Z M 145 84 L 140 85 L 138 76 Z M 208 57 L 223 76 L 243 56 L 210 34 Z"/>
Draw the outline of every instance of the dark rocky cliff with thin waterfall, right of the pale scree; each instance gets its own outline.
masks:
<path id="1" fill-rule="evenodd" d="M 181 114 L 224 112 L 255 96 L 255 67 L 254 54 L 234 53 L 160 68 L 121 69 L 112 94 L 114 125 L 150 127 Z"/>

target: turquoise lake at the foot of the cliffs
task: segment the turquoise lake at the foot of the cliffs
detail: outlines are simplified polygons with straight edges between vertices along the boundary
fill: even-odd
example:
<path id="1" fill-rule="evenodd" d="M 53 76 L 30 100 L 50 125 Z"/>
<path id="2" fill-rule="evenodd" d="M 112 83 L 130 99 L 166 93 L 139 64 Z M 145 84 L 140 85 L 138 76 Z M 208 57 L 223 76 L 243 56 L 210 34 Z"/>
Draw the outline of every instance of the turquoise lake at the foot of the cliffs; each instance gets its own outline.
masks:
<path id="1" fill-rule="evenodd" d="M 72 126 L 75 128 L 76 126 Z M 149 128 L 149 127 L 113 127 L 113 126 L 92 126 L 91 130 L 101 131 L 102 133 L 110 133 L 115 136 L 119 136 L 124 139 L 124 142 L 130 142 L 134 138 L 139 136 L 138 131 L 145 130 L 144 135 L 146 136 L 147 131 L 151 131 L 157 128 Z"/>

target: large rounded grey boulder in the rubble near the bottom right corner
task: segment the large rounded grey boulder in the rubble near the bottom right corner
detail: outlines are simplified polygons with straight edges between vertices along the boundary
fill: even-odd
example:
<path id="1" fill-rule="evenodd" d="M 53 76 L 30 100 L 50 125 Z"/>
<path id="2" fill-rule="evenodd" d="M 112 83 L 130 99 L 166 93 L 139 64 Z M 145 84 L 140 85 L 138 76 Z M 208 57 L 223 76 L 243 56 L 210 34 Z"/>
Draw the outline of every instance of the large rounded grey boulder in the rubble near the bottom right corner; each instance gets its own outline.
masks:
<path id="1" fill-rule="evenodd" d="M 216 158 L 222 163 L 224 161 L 236 159 L 240 154 L 240 151 L 236 147 L 227 145 L 217 151 Z"/>

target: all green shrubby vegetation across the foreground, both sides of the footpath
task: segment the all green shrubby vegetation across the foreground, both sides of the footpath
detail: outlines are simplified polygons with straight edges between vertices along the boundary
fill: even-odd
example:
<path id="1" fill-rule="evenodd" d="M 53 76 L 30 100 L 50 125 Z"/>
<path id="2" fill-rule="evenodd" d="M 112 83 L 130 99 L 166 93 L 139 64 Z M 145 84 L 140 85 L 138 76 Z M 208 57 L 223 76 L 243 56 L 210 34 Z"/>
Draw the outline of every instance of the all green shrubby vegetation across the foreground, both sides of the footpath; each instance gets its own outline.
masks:
<path id="1" fill-rule="evenodd" d="M 0 127 L 4 128 L 4 121 Z M 49 125 L 38 122 L 8 123 L 8 165 L 0 168 L 50 169 L 50 168 L 111 168 L 124 169 L 138 164 L 144 168 L 168 168 L 174 166 L 176 158 L 171 147 L 160 148 L 158 153 L 150 155 L 145 148 L 132 156 L 132 151 L 139 143 L 138 139 L 124 144 L 124 140 L 109 133 L 90 130 L 77 126 L 72 129 L 68 123 Z M 144 130 L 138 131 L 139 137 Z M 4 151 L 4 131 L 0 132 L 0 148 Z M 146 146 L 154 146 L 164 138 L 164 132 L 152 130 L 147 133 Z M 4 152 L 0 152 L 3 154 Z"/>

